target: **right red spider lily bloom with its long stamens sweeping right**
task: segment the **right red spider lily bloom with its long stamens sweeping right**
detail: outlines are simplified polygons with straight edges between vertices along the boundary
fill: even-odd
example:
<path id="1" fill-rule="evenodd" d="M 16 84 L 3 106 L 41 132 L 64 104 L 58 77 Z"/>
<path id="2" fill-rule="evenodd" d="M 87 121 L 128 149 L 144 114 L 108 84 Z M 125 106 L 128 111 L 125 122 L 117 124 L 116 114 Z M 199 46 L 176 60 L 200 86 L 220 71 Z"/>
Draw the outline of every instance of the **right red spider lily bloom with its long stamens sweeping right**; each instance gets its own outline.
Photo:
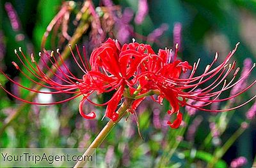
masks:
<path id="1" fill-rule="evenodd" d="M 243 94 L 243 92 L 248 90 L 248 88 L 252 87 L 252 85 L 256 83 L 255 80 L 253 81 L 253 83 L 248 85 L 248 87 L 244 88 L 237 94 L 227 98 L 219 99 L 222 92 L 234 87 L 237 83 L 242 81 L 243 78 L 250 74 L 253 67 L 255 67 L 255 64 L 253 64 L 253 67 L 247 72 L 247 75 L 242 76 L 239 80 L 234 82 L 239 71 L 239 67 L 234 70 L 236 62 L 228 64 L 228 61 L 230 60 L 232 55 L 234 55 L 234 52 L 236 52 L 237 45 L 236 48 L 232 50 L 232 52 L 228 53 L 226 59 L 219 66 L 212 68 L 213 64 L 218 59 L 218 53 L 216 53 L 216 56 L 212 63 L 205 67 L 204 73 L 200 76 L 194 76 L 200 60 L 198 60 L 198 62 L 195 62 L 193 67 L 189 66 L 188 62 L 181 62 L 180 60 L 177 60 L 178 46 L 176 46 L 173 60 L 170 57 L 170 50 L 159 50 L 159 53 L 157 55 L 155 53 L 152 53 L 149 54 L 148 57 L 145 57 L 143 59 L 143 62 L 141 62 L 140 65 L 142 73 L 138 77 L 141 87 L 147 90 L 147 92 L 148 90 L 153 89 L 159 90 L 160 94 L 157 102 L 161 103 L 163 98 L 166 98 L 170 102 L 172 110 L 168 110 L 168 114 L 172 115 L 173 113 L 177 113 L 176 120 L 173 123 L 167 123 L 168 125 L 170 125 L 170 127 L 177 128 L 182 122 L 182 114 L 179 111 L 179 106 L 186 105 L 191 106 L 192 108 L 211 112 L 230 111 L 243 106 L 244 104 L 252 101 L 252 99 L 256 97 L 255 95 L 250 100 L 233 108 L 218 110 L 211 110 L 205 108 L 206 106 L 214 102 L 227 101 L 236 97 L 237 95 Z M 190 76 L 188 78 L 181 79 L 180 74 L 186 72 L 188 69 L 192 69 Z M 232 72 L 233 78 L 230 81 L 227 81 L 226 77 Z M 196 89 L 200 88 L 200 86 L 202 86 L 204 83 L 214 78 L 215 80 L 208 87 L 201 88 L 199 90 Z M 222 85 L 221 89 L 216 90 L 216 88 L 220 85 Z M 203 103 L 196 105 L 188 104 L 188 102 L 186 102 L 186 100 L 188 99 Z"/>

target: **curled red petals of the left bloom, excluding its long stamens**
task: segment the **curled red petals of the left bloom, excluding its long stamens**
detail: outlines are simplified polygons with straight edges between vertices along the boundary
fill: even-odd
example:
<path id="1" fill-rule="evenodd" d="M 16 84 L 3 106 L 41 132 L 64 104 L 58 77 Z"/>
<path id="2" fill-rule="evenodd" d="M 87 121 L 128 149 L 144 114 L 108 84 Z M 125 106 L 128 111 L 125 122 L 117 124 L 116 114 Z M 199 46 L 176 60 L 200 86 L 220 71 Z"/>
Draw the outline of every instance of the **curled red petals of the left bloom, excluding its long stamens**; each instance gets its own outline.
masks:
<path id="1" fill-rule="evenodd" d="M 117 90 L 106 108 L 106 116 L 113 121 L 118 118 L 115 111 L 123 97 L 125 87 L 133 89 L 141 59 L 143 59 L 143 51 L 138 43 L 120 46 L 117 40 L 110 38 L 92 52 L 90 57 L 92 71 L 89 74 L 93 73 L 93 76 L 109 79 L 102 80 L 99 86 L 101 89 L 98 91 Z M 97 82 L 95 80 L 95 83 Z"/>

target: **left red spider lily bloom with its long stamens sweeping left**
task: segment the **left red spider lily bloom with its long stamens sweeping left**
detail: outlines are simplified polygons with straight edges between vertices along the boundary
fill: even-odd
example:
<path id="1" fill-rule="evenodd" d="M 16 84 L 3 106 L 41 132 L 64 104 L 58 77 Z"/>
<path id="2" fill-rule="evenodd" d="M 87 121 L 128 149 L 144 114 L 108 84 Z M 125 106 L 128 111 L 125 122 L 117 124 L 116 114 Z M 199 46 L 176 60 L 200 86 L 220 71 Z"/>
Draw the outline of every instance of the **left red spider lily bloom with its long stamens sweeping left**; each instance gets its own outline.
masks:
<path id="1" fill-rule="evenodd" d="M 8 77 L 6 74 L 1 71 L 1 73 L 8 78 L 8 80 L 12 81 L 16 85 L 18 85 L 21 88 L 24 88 L 26 90 L 29 90 L 31 92 L 36 93 L 42 93 L 42 94 L 76 94 L 73 97 L 70 97 L 68 99 L 65 99 L 63 101 L 59 102 L 50 102 L 50 103 L 40 103 L 40 102 L 30 102 L 26 101 L 25 99 L 21 99 L 20 97 L 17 97 L 16 95 L 13 95 L 11 92 L 6 90 L 2 85 L 1 87 L 10 95 L 15 97 L 16 99 L 19 99 L 20 101 L 28 102 L 31 104 L 39 104 L 39 105 L 47 105 L 47 104 L 58 104 L 61 102 L 70 101 L 71 99 L 74 99 L 76 97 L 79 97 L 80 95 L 83 95 L 83 99 L 79 104 L 79 112 L 84 118 L 95 118 L 95 113 L 91 112 L 88 115 L 83 113 L 83 103 L 84 101 L 90 101 L 88 99 L 88 96 L 92 94 L 92 92 L 97 91 L 98 94 L 102 94 L 103 92 L 111 92 L 112 90 L 116 89 L 115 94 L 113 97 L 104 104 L 96 104 L 92 102 L 93 104 L 97 106 L 104 106 L 108 104 L 108 107 L 106 108 L 106 116 L 108 118 L 111 118 L 111 120 L 116 121 L 118 118 L 118 114 L 115 113 L 115 110 L 118 106 L 118 102 L 123 97 L 124 89 L 125 87 L 132 87 L 133 83 L 132 81 L 134 78 L 136 78 L 136 70 L 138 67 L 138 64 L 140 63 L 140 60 L 143 58 L 143 53 L 141 53 L 140 48 L 138 46 L 134 46 L 133 43 L 129 45 L 124 45 L 122 48 L 118 41 L 113 39 L 108 39 L 105 43 L 102 44 L 99 48 L 96 48 L 93 53 L 92 57 L 90 57 L 90 65 L 89 62 L 86 61 L 86 58 L 84 57 L 84 60 L 81 56 L 81 53 L 79 52 L 79 48 L 76 46 L 77 49 L 77 55 L 79 56 L 79 61 L 76 59 L 75 54 L 72 52 L 70 47 L 70 52 L 72 53 L 72 57 L 74 58 L 74 61 L 76 62 L 77 66 L 81 71 L 83 71 L 84 75 L 82 79 L 76 78 L 74 74 L 71 73 L 71 71 L 68 69 L 68 67 L 65 65 L 65 62 L 63 61 L 60 52 L 57 50 L 57 53 L 60 57 L 60 62 L 63 64 L 65 69 L 68 73 L 63 72 L 61 69 L 60 62 L 56 59 L 54 56 L 54 52 L 51 52 L 51 54 L 47 53 L 46 50 L 44 50 L 44 55 L 46 55 L 52 66 L 57 69 L 57 71 L 61 72 L 63 75 L 58 75 L 55 71 L 51 69 L 47 65 L 47 62 L 45 62 L 44 59 L 44 66 L 46 67 L 48 73 L 44 73 L 43 69 L 40 69 L 38 64 L 35 61 L 35 58 L 33 55 L 31 55 L 31 62 L 26 58 L 24 53 L 22 52 L 21 48 L 19 48 L 19 51 L 21 53 L 20 55 L 17 53 L 17 50 L 15 50 L 15 54 L 17 55 L 18 59 L 20 60 L 22 66 L 31 73 L 31 75 L 34 78 L 37 78 L 38 80 L 43 81 L 46 83 L 46 85 L 33 80 L 33 78 L 29 77 L 26 73 L 20 70 L 17 63 L 12 62 L 13 65 L 22 73 L 26 78 L 33 81 L 36 85 L 40 85 L 41 87 L 50 88 L 52 92 L 42 92 L 38 91 L 32 88 L 24 87 L 20 85 L 20 83 L 15 82 L 12 80 L 12 78 Z M 83 48 L 83 53 L 85 55 L 85 48 Z M 42 55 L 40 53 L 40 55 Z M 28 66 L 26 66 L 28 64 Z M 58 83 L 50 77 L 51 75 L 56 76 L 58 80 L 63 81 L 65 84 Z"/>

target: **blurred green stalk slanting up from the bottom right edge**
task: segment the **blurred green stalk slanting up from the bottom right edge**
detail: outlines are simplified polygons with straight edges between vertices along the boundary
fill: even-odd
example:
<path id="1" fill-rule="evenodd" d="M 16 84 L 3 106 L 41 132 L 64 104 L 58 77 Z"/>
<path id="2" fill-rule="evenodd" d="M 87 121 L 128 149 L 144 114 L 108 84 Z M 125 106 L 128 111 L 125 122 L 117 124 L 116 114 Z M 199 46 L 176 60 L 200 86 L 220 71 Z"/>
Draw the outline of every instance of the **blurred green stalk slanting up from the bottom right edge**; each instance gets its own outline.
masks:
<path id="1" fill-rule="evenodd" d="M 216 162 L 218 162 L 218 160 L 223 157 L 223 155 L 227 152 L 227 150 L 230 148 L 230 146 L 236 141 L 236 139 L 241 136 L 241 134 L 243 134 L 244 132 L 243 127 L 239 127 L 239 129 L 236 130 L 236 132 L 228 138 L 228 140 L 226 141 L 225 144 L 223 144 L 223 146 L 221 146 L 221 148 L 218 148 L 214 151 L 213 154 L 213 158 L 211 160 L 211 162 L 208 163 L 207 167 L 211 168 L 214 167 L 214 165 L 216 164 Z"/>

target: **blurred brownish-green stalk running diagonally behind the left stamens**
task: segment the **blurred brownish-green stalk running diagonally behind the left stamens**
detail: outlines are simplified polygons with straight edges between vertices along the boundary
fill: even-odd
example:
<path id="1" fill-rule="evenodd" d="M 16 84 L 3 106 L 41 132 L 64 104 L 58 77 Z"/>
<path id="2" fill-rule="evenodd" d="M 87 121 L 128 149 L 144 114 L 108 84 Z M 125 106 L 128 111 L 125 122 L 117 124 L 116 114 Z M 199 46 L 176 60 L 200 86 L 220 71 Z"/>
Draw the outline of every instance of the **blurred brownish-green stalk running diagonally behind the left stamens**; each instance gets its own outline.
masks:
<path id="1" fill-rule="evenodd" d="M 86 3 L 84 3 L 84 5 L 88 6 L 89 1 L 86 1 Z M 76 31 L 74 32 L 74 35 L 72 36 L 72 38 L 70 39 L 69 43 L 71 45 L 71 48 L 74 48 L 75 44 L 77 43 L 77 41 L 79 41 L 79 39 L 81 39 L 81 37 L 83 36 L 84 32 L 86 32 L 88 30 L 89 27 L 89 20 L 90 20 L 90 14 L 88 13 L 88 10 L 86 10 L 83 13 L 83 20 L 81 20 L 80 24 L 78 25 Z M 65 46 L 65 49 L 63 50 L 63 52 L 61 53 L 61 57 L 63 60 L 68 58 L 68 55 L 70 54 L 70 48 L 69 46 Z M 59 59 L 56 65 L 61 65 L 62 61 Z M 56 66 L 58 67 L 58 66 Z M 52 66 L 51 70 L 53 72 L 56 72 L 56 67 Z M 49 78 L 51 78 L 52 73 L 51 71 L 49 71 L 48 73 L 46 73 L 47 76 L 49 76 Z M 43 81 L 40 81 L 40 83 L 44 83 Z M 40 88 L 42 88 L 42 86 L 40 85 L 36 85 L 35 90 L 40 90 Z M 26 100 L 31 101 L 34 97 L 36 96 L 36 93 L 32 93 L 30 94 L 28 97 L 26 97 Z M 13 113 L 13 115 L 9 116 L 8 118 L 6 118 L 6 120 L 4 120 L 3 125 L 0 129 L 0 137 L 2 136 L 4 130 L 6 129 L 6 127 L 8 127 L 19 115 L 22 111 L 24 111 L 24 109 L 28 106 L 28 104 L 23 103 L 19 106 L 19 108 L 15 111 L 15 113 Z"/>

